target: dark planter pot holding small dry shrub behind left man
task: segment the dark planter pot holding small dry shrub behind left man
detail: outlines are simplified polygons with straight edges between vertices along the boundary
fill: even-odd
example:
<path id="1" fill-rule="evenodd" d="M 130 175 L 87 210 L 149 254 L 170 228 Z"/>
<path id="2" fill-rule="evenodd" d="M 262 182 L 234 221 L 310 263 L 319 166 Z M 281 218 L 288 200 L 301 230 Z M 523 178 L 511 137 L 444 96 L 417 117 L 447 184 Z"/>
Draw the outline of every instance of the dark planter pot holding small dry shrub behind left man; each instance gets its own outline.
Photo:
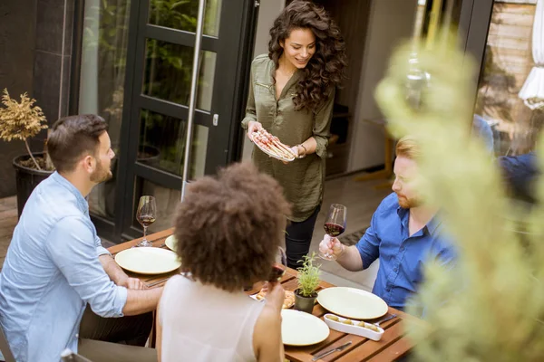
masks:
<path id="1" fill-rule="evenodd" d="M 34 153 L 34 157 L 43 156 L 44 153 Z M 14 158 L 13 165 L 15 168 L 15 183 L 17 186 L 17 216 L 21 217 L 23 213 L 24 204 L 26 200 L 30 197 L 30 194 L 34 191 L 34 188 L 38 184 L 44 181 L 45 178 L 53 174 L 54 171 L 40 171 L 34 168 L 28 168 L 21 166 L 19 163 L 21 161 L 29 159 L 28 155 L 21 155 Z"/>

